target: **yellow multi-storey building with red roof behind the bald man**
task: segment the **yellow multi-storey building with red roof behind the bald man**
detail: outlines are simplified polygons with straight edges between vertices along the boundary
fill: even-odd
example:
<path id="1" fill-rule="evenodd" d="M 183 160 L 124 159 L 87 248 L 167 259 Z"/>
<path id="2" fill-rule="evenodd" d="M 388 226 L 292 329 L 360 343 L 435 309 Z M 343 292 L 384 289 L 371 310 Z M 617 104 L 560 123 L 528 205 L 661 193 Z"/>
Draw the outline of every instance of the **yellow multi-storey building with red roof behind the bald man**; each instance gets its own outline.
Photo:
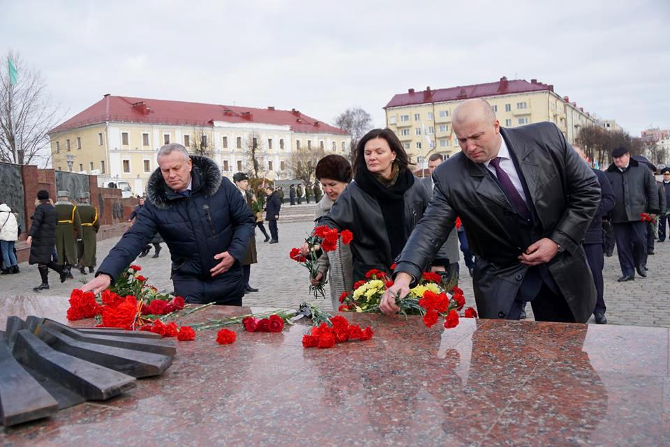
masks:
<path id="1" fill-rule="evenodd" d="M 394 130 L 408 155 L 415 160 L 426 160 L 433 153 L 452 156 L 461 150 L 454 130 L 454 109 L 464 100 L 482 98 L 496 112 L 500 126 L 512 128 L 540 121 L 551 121 L 572 144 L 579 129 L 597 125 L 588 112 L 570 103 L 569 98 L 553 92 L 553 86 L 535 79 L 521 79 L 453 87 L 450 89 L 401 93 L 387 104 L 386 125 Z"/>

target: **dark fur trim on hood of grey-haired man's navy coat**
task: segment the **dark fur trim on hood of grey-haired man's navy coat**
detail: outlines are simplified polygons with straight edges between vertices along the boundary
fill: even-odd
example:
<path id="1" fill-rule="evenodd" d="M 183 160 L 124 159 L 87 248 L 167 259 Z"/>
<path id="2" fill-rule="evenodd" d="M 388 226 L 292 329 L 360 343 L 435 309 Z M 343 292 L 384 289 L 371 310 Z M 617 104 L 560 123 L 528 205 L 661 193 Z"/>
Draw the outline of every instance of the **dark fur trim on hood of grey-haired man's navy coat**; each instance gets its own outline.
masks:
<path id="1" fill-rule="evenodd" d="M 203 156 L 191 156 L 193 169 L 191 170 L 191 188 L 193 192 L 202 192 L 204 195 L 212 196 L 221 186 L 221 169 L 211 158 Z M 169 209 L 170 201 L 181 196 L 177 195 L 163 179 L 161 168 L 158 167 L 149 177 L 147 182 L 147 201 L 158 209 Z"/>

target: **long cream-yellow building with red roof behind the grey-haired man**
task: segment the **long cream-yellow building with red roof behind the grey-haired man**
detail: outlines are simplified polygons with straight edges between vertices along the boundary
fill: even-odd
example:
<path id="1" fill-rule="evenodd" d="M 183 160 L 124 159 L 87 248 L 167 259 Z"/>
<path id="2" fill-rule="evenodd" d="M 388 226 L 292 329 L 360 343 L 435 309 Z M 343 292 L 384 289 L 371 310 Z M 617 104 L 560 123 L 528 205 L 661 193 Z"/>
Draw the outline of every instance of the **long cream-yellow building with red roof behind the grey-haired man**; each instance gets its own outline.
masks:
<path id="1" fill-rule="evenodd" d="M 156 169 L 163 144 L 180 143 L 211 156 L 223 170 L 253 171 L 287 179 L 290 154 L 297 149 L 323 149 L 348 155 L 347 132 L 297 109 L 259 109 L 231 105 L 133 98 L 106 94 L 91 107 L 59 124 L 48 135 L 56 169 L 98 174 L 101 179 L 131 183 L 144 192 Z"/>

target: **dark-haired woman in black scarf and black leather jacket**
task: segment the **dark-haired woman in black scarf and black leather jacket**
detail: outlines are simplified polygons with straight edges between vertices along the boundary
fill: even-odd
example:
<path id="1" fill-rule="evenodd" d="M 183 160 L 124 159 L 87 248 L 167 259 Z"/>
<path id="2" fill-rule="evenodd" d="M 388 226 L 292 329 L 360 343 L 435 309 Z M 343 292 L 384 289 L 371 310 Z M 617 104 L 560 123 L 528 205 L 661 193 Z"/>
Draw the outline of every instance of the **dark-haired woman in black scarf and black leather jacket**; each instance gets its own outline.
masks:
<path id="1" fill-rule="evenodd" d="M 392 130 L 371 130 L 356 147 L 354 181 L 319 220 L 319 225 L 353 233 L 354 282 L 365 280 L 372 268 L 391 273 L 394 259 L 430 202 L 428 191 L 408 164 L 407 153 Z"/>

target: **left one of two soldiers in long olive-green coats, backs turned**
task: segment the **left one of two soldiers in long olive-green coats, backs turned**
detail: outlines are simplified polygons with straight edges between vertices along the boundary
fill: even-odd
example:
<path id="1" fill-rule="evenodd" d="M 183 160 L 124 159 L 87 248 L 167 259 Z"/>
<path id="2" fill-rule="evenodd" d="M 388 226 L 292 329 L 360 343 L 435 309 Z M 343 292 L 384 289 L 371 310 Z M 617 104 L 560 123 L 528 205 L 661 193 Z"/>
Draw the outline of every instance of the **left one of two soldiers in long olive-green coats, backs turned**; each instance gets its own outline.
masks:
<path id="1" fill-rule="evenodd" d="M 69 202 L 70 192 L 59 191 L 54 204 L 58 222 L 56 224 L 56 252 L 63 271 L 72 278 L 70 270 L 77 264 L 77 240 L 82 238 L 82 221 L 77 206 Z"/>

